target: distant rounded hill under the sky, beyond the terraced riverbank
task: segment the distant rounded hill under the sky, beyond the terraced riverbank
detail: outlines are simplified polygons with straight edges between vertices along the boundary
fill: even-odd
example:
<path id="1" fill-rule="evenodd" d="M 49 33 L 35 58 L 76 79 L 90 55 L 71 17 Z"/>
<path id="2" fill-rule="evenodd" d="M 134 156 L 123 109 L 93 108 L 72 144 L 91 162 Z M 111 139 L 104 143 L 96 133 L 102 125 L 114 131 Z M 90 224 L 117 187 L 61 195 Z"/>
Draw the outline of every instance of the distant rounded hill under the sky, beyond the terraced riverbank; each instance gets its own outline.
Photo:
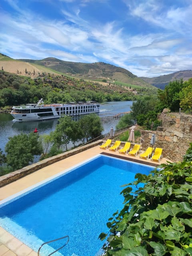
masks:
<path id="1" fill-rule="evenodd" d="M 21 59 L 20 61 L 28 62 L 32 65 L 41 65 L 62 74 L 86 80 L 96 80 L 98 82 L 102 82 L 103 80 L 106 80 L 106 82 L 118 81 L 128 85 L 151 87 L 150 84 L 138 78 L 130 71 L 104 62 L 68 62 L 51 57 L 43 60 Z"/>

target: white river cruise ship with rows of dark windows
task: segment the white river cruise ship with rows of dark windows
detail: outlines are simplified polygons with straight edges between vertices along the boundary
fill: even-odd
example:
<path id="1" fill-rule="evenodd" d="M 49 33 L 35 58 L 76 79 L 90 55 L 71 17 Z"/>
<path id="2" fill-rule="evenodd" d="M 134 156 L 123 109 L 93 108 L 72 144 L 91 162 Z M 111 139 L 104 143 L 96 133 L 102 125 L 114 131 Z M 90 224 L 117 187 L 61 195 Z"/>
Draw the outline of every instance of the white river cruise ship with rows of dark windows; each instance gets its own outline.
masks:
<path id="1" fill-rule="evenodd" d="M 93 101 L 44 104 L 43 99 L 40 99 L 36 104 L 13 106 L 10 114 L 18 121 L 38 121 L 59 118 L 62 115 L 78 116 L 98 112 L 99 104 Z"/>

